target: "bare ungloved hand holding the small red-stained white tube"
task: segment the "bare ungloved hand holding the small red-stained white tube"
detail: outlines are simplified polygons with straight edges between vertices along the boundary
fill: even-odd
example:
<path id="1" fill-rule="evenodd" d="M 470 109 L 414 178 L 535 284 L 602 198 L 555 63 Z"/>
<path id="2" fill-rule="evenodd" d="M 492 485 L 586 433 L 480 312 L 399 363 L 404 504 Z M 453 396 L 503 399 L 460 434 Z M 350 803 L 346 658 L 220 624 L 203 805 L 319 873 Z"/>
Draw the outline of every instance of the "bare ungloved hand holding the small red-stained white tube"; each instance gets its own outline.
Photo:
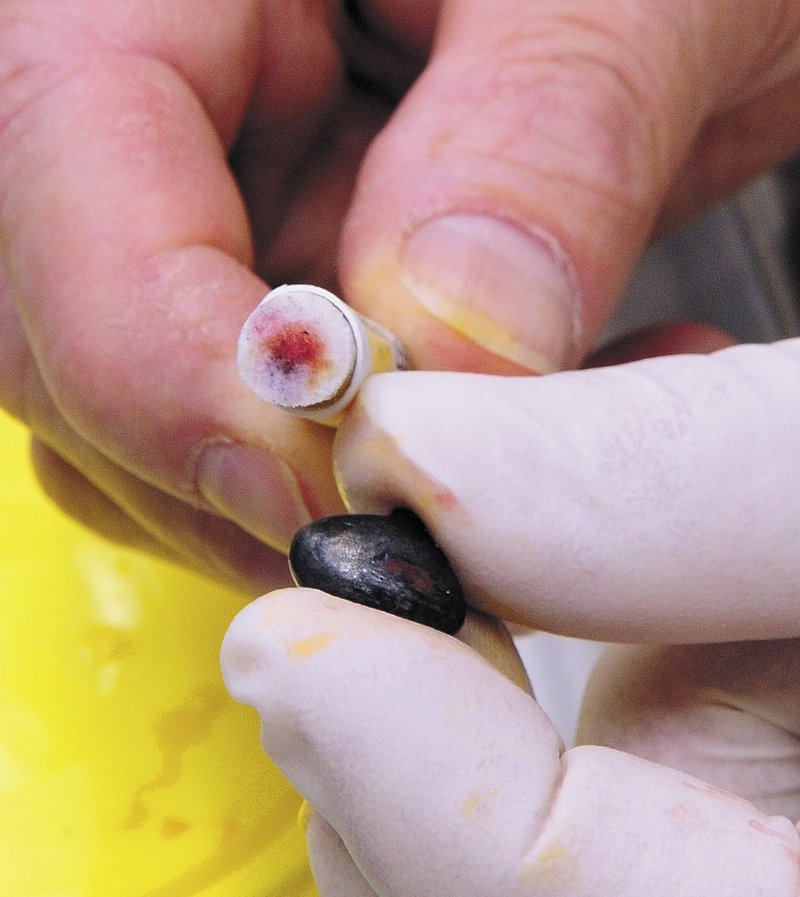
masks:
<path id="1" fill-rule="evenodd" d="M 5 0 L 0 405 L 81 519 L 274 587 L 341 508 L 236 373 L 267 284 L 416 368 L 569 367 L 654 228 L 800 145 L 799 47 L 792 0 Z"/>

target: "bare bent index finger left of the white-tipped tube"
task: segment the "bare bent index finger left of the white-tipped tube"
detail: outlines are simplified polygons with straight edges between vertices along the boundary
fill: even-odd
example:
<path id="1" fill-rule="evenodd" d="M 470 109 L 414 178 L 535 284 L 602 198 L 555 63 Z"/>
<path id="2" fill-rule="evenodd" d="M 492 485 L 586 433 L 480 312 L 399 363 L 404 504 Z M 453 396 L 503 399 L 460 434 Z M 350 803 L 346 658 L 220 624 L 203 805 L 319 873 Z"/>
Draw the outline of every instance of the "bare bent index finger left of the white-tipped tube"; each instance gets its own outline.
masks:
<path id="1" fill-rule="evenodd" d="M 308 506 L 304 520 L 339 507 L 329 437 L 257 402 L 235 368 L 238 329 L 266 290 L 226 157 L 261 21 L 249 4 L 200 6 L 147 39 L 143 26 L 125 33 L 124 8 L 95 10 L 102 38 L 86 10 L 54 13 L 40 52 L 11 17 L 21 72 L 0 97 L 4 261 L 36 365 L 84 439 L 201 507 L 237 465 L 249 481 L 285 479 L 277 500 Z M 192 11 L 208 43 L 193 43 Z"/>

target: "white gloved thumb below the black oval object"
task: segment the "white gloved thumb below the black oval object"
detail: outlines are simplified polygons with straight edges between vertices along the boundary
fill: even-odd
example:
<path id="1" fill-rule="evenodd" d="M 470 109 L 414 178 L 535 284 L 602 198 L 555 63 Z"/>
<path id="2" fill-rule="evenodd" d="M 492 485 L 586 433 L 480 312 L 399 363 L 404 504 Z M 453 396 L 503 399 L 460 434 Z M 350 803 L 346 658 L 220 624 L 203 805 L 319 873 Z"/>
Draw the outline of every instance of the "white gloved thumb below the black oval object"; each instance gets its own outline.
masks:
<path id="1" fill-rule="evenodd" d="M 535 701 L 443 633 L 284 590 L 239 613 L 222 668 L 325 823 L 326 897 L 797 893 L 789 820 L 617 751 L 562 755 Z"/>

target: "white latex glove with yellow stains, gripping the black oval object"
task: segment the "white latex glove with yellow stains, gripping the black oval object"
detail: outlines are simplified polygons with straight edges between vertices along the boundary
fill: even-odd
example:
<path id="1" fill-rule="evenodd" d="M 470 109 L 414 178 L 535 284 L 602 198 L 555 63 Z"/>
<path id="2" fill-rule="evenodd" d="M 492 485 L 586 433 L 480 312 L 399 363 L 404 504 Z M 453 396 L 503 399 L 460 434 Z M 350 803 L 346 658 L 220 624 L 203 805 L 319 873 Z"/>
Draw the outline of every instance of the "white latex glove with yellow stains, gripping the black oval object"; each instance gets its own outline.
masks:
<path id="1" fill-rule="evenodd" d="M 223 669 L 317 808 L 325 897 L 800 894 L 798 361 L 793 341 L 368 382 L 338 443 L 353 508 L 413 508 L 475 607 L 652 643 L 601 664 L 581 732 L 650 759 L 562 754 L 457 639 L 275 593 Z"/>

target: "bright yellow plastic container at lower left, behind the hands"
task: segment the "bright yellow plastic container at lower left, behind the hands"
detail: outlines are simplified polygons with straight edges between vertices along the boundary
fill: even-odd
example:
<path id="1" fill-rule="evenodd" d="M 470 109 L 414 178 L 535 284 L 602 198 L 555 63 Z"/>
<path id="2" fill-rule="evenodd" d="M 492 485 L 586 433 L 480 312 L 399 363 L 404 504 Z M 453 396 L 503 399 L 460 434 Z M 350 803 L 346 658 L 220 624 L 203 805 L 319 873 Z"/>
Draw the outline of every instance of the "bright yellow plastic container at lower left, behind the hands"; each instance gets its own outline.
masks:
<path id="1" fill-rule="evenodd" d="M 299 798 L 219 674 L 243 598 L 58 511 L 0 413 L 0 894 L 311 897 Z"/>

